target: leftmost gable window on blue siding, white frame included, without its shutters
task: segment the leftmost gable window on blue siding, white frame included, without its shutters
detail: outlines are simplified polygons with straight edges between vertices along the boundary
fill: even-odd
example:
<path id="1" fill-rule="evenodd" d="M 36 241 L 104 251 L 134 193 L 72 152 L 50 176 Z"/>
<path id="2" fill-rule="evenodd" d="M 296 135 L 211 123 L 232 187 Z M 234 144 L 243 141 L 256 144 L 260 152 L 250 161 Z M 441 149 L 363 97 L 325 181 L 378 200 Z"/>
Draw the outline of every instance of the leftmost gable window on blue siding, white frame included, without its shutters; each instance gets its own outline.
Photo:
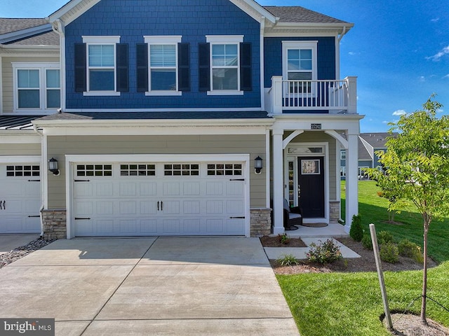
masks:
<path id="1" fill-rule="evenodd" d="M 116 43 L 119 42 L 120 36 L 83 36 L 88 92 L 116 92 Z"/>

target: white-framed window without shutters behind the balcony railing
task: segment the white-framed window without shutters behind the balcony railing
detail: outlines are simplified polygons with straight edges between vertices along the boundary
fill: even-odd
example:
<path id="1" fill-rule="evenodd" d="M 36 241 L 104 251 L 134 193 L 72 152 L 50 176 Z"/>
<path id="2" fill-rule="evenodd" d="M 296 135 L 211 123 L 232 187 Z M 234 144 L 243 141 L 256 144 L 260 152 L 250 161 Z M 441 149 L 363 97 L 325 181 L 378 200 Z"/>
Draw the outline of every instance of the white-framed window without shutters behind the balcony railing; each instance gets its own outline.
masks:
<path id="1" fill-rule="evenodd" d="M 283 79 L 290 82 L 290 93 L 314 93 L 316 46 L 318 41 L 283 41 Z"/>

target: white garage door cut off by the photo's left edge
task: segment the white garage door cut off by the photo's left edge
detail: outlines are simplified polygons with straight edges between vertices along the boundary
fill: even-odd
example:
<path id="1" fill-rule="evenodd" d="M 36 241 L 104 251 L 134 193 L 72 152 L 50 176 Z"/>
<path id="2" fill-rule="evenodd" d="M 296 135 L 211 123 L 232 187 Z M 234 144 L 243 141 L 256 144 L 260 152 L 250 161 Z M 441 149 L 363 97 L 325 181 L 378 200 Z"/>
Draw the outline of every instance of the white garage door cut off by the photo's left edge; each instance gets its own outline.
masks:
<path id="1" fill-rule="evenodd" d="M 0 164 L 0 233 L 40 233 L 39 164 Z"/>

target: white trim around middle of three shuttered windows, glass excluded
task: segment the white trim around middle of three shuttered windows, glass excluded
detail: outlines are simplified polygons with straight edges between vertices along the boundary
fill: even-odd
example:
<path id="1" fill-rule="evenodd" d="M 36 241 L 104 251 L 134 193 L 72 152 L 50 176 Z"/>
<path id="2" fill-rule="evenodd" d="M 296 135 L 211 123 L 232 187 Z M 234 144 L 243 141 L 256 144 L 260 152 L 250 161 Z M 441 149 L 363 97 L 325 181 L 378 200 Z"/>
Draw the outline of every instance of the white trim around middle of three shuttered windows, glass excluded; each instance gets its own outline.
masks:
<path id="1" fill-rule="evenodd" d="M 145 43 L 147 43 L 148 48 L 148 91 L 145 92 L 146 96 L 181 96 L 182 92 L 179 90 L 179 83 L 177 79 L 177 73 L 178 73 L 178 65 L 179 65 L 179 59 L 177 59 L 177 43 L 181 43 L 182 36 L 181 35 L 173 35 L 173 36 L 143 36 Z M 151 70 L 152 66 L 149 62 L 150 57 L 150 49 L 151 45 L 168 45 L 173 44 L 175 45 L 175 57 L 176 57 L 176 65 L 175 65 L 175 76 L 176 76 L 176 90 L 152 90 L 151 83 Z"/>

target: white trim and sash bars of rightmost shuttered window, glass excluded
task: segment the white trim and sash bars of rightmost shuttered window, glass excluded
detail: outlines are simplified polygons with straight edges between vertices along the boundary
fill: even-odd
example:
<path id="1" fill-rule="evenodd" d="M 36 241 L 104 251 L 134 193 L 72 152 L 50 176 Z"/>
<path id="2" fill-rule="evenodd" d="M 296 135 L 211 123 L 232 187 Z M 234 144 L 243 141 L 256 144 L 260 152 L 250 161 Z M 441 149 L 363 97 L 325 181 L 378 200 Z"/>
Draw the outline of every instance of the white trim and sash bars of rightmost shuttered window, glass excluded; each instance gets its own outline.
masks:
<path id="1" fill-rule="evenodd" d="M 231 96 L 243 95 L 240 90 L 240 43 L 243 42 L 243 35 L 206 35 L 206 42 L 210 43 L 210 90 L 207 92 L 208 96 Z M 213 62 L 212 62 L 212 46 L 214 44 L 236 44 L 237 45 L 237 90 L 213 90 Z M 225 66 L 220 66 L 224 68 Z M 229 66 L 230 69 L 235 69 L 234 66 Z"/>

